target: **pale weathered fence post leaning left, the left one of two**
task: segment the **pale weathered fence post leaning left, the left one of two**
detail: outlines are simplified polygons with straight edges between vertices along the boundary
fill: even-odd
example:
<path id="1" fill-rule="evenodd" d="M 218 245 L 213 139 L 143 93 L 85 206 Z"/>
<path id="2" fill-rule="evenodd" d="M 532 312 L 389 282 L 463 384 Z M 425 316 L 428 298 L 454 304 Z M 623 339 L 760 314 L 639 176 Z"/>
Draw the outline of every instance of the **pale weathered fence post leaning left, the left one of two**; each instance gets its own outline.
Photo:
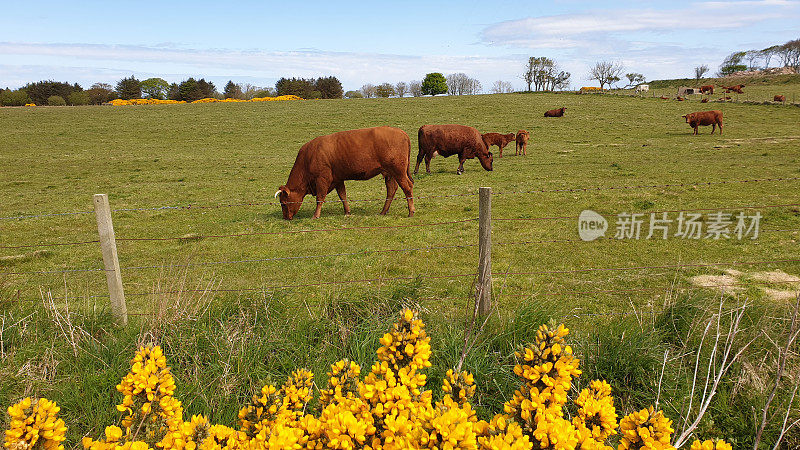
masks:
<path id="1" fill-rule="evenodd" d="M 117 241 L 114 239 L 114 224 L 111 222 L 108 195 L 94 195 L 94 213 L 97 216 L 100 249 L 103 251 L 103 265 L 106 270 L 108 294 L 111 298 L 111 314 L 119 325 L 125 325 L 128 323 L 128 307 L 125 305 L 125 291 L 122 289 L 122 274 L 119 271 Z"/>

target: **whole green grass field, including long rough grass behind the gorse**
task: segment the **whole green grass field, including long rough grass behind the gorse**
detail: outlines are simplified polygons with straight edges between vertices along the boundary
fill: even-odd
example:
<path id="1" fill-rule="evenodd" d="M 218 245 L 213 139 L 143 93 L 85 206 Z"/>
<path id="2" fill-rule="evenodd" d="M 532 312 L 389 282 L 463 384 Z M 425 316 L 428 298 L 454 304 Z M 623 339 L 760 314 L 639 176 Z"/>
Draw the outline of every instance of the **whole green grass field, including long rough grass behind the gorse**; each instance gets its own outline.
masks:
<path id="1" fill-rule="evenodd" d="M 542 117 L 560 106 L 567 107 L 565 117 Z M 706 316 L 694 314 L 717 304 L 718 291 L 693 286 L 691 277 L 741 271 L 734 277 L 740 289 L 734 302 L 758 302 L 752 329 L 775 331 L 782 322 L 768 318 L 785 312 L 797 283 L 759 273 L 800 274 L 800 108 L 707 108 L 723 110 L 723 135 L 704 127 L 692 136 L 681 118 L 706 105 L 607 95 L 2 108 L 0 217 L 90 211 L 95 193 L 107 193 L 113 209 L 192 208 L 114 213 L 128 308 L 143 315 L 116 331 L 105 314 L 102 272 L 10 274 L 102 268 L 96 243 L 8 248 L 95 240 L 93 214 L 0 220 L 0 407 L 21 395 L 48 395 L 63 406 L 71 445 L 77 445 L 80 436 L 97 436 L 115 420 L 114 386 L 133 347 L 159 342 L 175 367 L 187 411 L 233 425 L 238 406 L 265 380 L 280 383 L 300 365 L 324 379 L 327 365 L 344 356 L 369 364 L 400 304 L 423 309 L 434 337 L 435 386 L 458 359 L 473 282 L 471 276 L 437 277 L 476 271 L 477 221 L 416 225 L 476 218 L 480 186 L 495 192 L 494 298 L 502 320 L 489 325 L 465 365 L 479 380 L 479 412 L 498 411 L 513 392 L 512 349 L 532 339 L 536 325 L 549 317 L 573 329 L 585 376 L 610 380 L 622 411 L 650 404 L 663 349 L 680 347 L 686 333 L 696 336 L 692 327 Z M 413 218 L 406 217 L 402 199 L 387 216 L 377 214 L 384 195 L 379 178 L 348 184 L 350 217 L 331 202 L 321 219 L 311 219 L 313 200 L 307 197 L 297 218 L 286 222 L 280 207 L 270 204 L 297 150 L 313 137 L 392 125 L 411 137 L 415 161 L 417 129 L 426 123 L 461 123 L 482 132 L 527 129 L 528 155 L 516 157 L 509 146 L 505 157 L 495 159 L 494 171 L 471 160 L 461 176 L 455 174 L 457 160 L 435 158 L 431 174 L 415 177 L 420 198 Z M 764 179 L 772 181 L 739 182 Z M 446 195 L 453 196 L 438 197 Z M 792 206 L 762 207 L 776 205 Z M 745 206 L 763 216 L 756 240 L 582 242 L 577 236 L 584 209 L 603 213 L 613 235 L 621 212 L 738 213 Z M 503 220 L 537 218 L 553 219 Z M 408 227 L 357 228 L 399 225 Z M 322 229 L 331 231 L 287 233 Z M 276 234 L 193 237 L 236 233 Z M 124 240 L 181 236 L 188 238 Z M 399 249 L 417 250 L 392 251 Z M 217 264 L 242 260 L 261 261 Z M 767 263 L 741 264 L 747 262 Z M 702 266 L 716 263 L 722 264 Z M 650 268 L 579 271 L 642 266 Z M 403 279 L 338 283 L 381 278 Z M 185 289 L 202 292 L 146 295 Z M 78 313 L 70 319 L 76 328 L 65 329 L 69 320 L 43 309 L 48 292 L 56 310 Z M 683 306 L 670 303 L 676 297 Z M 652 320 L 646 314 L 585 315 L 647 312 L 667 303 L 671 309 Z M 751 365 L 737 366 L 744 372 L 736 374 L 749 374 L 748 367 L 762 367 L 763 355 L 772 355 L 768 342 L 758 348 L 748 354 Z M 664 377 L 665 398 L 675 399 L 664 403 L 672 417 L 691 381 L 682 367 L 670 364 Z M 756 372 L 764 379 L 771 374 Z M 724 401 L 715 403 L 704 432 L 745 436 L 741 442 L 747 442 L 755 420 L 750 408 L 764 396 L 739 390 L 744 382 L 736 374 L 726 389 L 738 394 L 720 396 Z M 753 382 L 765 385 L 759 383 Z M 789 395 L 781 390 L 780 398 Z M 769 430 L 774 437 L 774 426 Z"/>

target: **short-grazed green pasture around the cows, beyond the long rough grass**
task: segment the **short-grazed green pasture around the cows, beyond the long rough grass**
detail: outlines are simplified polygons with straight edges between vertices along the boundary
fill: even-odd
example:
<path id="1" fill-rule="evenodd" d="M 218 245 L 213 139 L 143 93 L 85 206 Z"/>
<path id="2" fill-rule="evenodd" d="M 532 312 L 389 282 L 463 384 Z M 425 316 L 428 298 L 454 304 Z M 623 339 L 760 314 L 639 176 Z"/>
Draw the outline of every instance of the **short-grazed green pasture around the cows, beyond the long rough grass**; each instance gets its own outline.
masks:
<path id="1" fill-rule="evenodd" d="M 560 119 L 542 112 L 566 106 Z M 705 106 L 705 105 L 702 105 Z M 594 209 L 610 219 L 620 212 L 777 205 L 798 202 L 798 181 L 720 182 L 798 177 L 800 109 L 778 105 L 719 104 L 725 115 L 722 136 L 710 128 L 692 136 L 681 115 L 700 109 L 692 102 L 598 95 L 482 95 L 475 97 L 303 101 L 265 104 L 166 105 L 147 107 L 4 108 L 2 217 L 91 209 L 91 194 L 105 192 L 112 208 L 192 205 L 197 209 L 121 211 L 114 214 L 117 238 L 158 238 L 231 233 L 268 233 L 361 226 L 416 225 L 477 216 L 477 197 L 424 198 L 475 194 L 491 186 L 496 219 L 576 217 Z M 454 158 L 435 158 L 432 173 L 415 177 L 417 214 L 406 217 L 396 200 L 387 217 L 377 212 L 384 195 L 379 178 L 347 186 L 353 215 L 337 202 L 326 204 L 322 218 L 310 218 L 307 197 L 298 217 L 285 222 L 280 208 L 264 204 L 283 184 L 297 149 L 309 139 L 338 130 L 392 125 L 405 130 L 416 157 L 416 130 L 425 123 L 462 123 L 483 132 L 527 129 L 527 157 L 513 146 L 495 158 L 493 172 L 476 160 L 455 174 Z M 497 153 L 497 152 L 495 152 Z M 497 155 L 496 155 L 497 156 Z M 424 164 L 423 164 L 424 166 Z M 683 184 L 621 190 L 539 192 L 582 187 Z M 692 183 L 698 183 L 692 185 Z M 335 193 L 329 199 L 336 199 Z M 364 201 L 357 200 L 373 200 Z M 230 206 L 257 203 L 254 206 Z M 738 211 L 732 211 L 738 212 Z M 652 304 L 661 294 L 626 289 L 685 284 L 690 275 L 717 274 L 715 268 L 662 268 L 625 272 L 503 275 L 506 272 L 569 271 L 589 267 L 665 266 L 790 259 L 797 255 L 798 208 L 761 210 L 765 231 L 756 241 L 606 240 L 502 245 L 506 242 L 576 239 L 574 218 L 494 223 L 495 288 L 501 307 L 521 301 L 555 298 L 565 309 L 604 312 L 633 304 Z M 676 214 L 672 215 L 674 219 Z M 61 243 L 96 239 L 93 214 L 53 216 L 0 223 L 0 245 Z M 644 226 L 647 226 L 645 222 Z M 674 231 L 673 231 L 674 232 Z M 477 249 L 446 248 L 365 253 L 319 259 L 207 264 L 218 261 L 372 252 L 399 248 L 476 244 L 477 223 L 466 222 L 394 230 L 344 230 L 266 234 L 242 238 L 170 241 L 121 241 L 125 267 L 195 264 L 189 268 L 123 269 L 129 308 L 148 312 L 152 298 L 143 294 L 170 284 L 178 272 L 184 287 L 255 289 L 319 282 L 469 274 Z M 645 230 L 646 235 L 646 230 Z M 35 250 L 44 252 L 34 253 Z M 1 249 L 3 272 L 102 267 L 97 244 Z M 201 265 L 197 265 L 201 264 Z M 202 265 L 206 264 L 206 265 Z M 720 266 L 720 269 L 737 268 Z M 800 272 L 797 263 L 740 268 Z M 40 288 L 79 304 L 99 302 L 105 293 L 100 272 L 5 275 L 5 289 L 20 298 L 37 298 Z M 423 279 L 425 297 L 463 297 L 470 278 Z M 376 283 L 332 284 L 283 292 L 293 303 L 309 304 L 348 292 L 380 289 Z M 774 286 L 773 286 L 774 287 Z M 66 293 L 65 293 L 66 288 Z M 589 295 L 564 291 L 618 291 Z M 755 290 L 757 291 L 757 289 Z M 437 310 L 461 308 L 434 301 Z"/>

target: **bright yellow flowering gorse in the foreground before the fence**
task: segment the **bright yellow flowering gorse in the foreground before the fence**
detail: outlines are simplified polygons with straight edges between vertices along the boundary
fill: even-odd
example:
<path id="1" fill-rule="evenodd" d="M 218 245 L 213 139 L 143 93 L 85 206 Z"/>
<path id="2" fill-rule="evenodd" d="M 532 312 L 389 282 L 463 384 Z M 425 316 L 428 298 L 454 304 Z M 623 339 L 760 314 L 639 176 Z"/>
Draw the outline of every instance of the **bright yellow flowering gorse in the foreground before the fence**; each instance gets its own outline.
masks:
<path id="1" fill-rule="evenodd" d="M 159 346 L 143 346 L 116 386 L 122 394 L 116 425 L 87 450 L 147 449 L 671 449 L 672 422 L 652 407 L 618 422 L 611 387 L 595 380 L 570 398 L 579 361 L 566 343 L 569 330 L 539 327 L 533 343 L 515 352 L 522 382 L 504 411 L 480 420 L 470 401 L 474 377 L 447 371 L 443 398 L 433 400 L 424 373 L 431 366 L 430 337 L 410 309 L 380 338 L 377 361 L 362 368 L 343 359 L 330 366 L 325 385 L 306 369 L 280 387 L 266 384 L 239 410 L 238 427 L 213 425 L 203 415 L 184 417 L 176 383 Z M 315 398 L 315 387 L 319 395 Z M 571 401 L 570 401 L 571 400 Z M 574 413 L 571 418 L 567 411 Z M 5 447 L 62 449 L 66 426 L 46 399 L 9 407 Z M 187 420 L 188 419 L 188 420 Z M 615 438 L 616 436 L 616 438 Z M 724 441 L 696 441 L 692 449 L 727 450 Z"/>

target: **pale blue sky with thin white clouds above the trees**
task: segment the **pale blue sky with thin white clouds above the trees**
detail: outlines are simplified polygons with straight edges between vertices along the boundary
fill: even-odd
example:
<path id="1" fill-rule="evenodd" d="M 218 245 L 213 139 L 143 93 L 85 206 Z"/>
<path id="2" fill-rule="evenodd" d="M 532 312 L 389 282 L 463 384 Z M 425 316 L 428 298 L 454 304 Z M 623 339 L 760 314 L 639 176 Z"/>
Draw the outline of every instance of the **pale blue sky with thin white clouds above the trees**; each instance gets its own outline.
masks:
<path id="1" fill-rule="evenodd" d="M 0 87 L 131 74 L 272 86 L 335 75 L 345 89 L 464 72 L 488 90 L 548 56 L 593 85 L 621 62 L 648 80 L 716 70 L 732 51 L 800 38 L 800 1 L 3 2 Z"/>

